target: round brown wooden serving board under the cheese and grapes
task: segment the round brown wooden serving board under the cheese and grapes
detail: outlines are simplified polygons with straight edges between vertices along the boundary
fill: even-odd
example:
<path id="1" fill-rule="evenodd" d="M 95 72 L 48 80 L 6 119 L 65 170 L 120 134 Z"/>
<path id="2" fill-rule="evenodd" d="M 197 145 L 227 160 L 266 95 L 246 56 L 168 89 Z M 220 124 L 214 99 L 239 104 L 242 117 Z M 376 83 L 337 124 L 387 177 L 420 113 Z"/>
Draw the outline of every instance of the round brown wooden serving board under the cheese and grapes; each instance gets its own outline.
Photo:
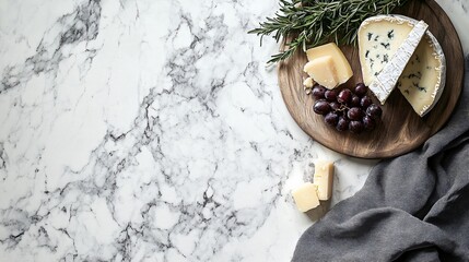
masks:
<path id="1" fill-rule="evenodd" d="M 298 51 L 289 60 L 279 63 L 279 85 L 290 114 L 314 140 L 333 151 L 362 158 L 402 155 L 419 147 L 436 133 L 450 117 L 458 102 L 464 79 L 464 53 L 449 17 L 434 0 L 411 0 L 395 13 L 425 21 L 446 57 L 445 90 L 437 105 L 423 118 L 413 111 L 399 91 L 394 91 L 382 106 L 383 121 L 375 130 L 359 135 L 336 131 L 326 126 L 323 116 L 313 111 L 314 99 L 303 90 L 306 55 Z M 357 47 L 341 49 L 351 63 L 354 75 L 338 88 L 350 88 L 362 82 L 359 50 Z M 374 95 L 368 95 L 378 104 Z"/>

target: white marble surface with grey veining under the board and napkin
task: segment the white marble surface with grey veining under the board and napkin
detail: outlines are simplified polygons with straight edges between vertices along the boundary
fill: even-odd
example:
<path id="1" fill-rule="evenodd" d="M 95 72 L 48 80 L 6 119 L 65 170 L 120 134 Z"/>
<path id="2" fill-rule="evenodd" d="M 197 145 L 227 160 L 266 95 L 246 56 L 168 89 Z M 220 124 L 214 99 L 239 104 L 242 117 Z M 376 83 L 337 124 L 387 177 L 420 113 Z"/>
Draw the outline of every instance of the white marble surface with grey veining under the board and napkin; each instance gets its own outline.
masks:
<path id="1" fill-rule="evenodd" d="M 439 0 L 461 33 L 464 0 Z M 1 261 L 288 261 L 290 190 L 336 162 L 332 204 L 375 160 L 294 123 L 277 1 L 0 1 Z M 460 34 L 466 52 L 469 35 Z"/>

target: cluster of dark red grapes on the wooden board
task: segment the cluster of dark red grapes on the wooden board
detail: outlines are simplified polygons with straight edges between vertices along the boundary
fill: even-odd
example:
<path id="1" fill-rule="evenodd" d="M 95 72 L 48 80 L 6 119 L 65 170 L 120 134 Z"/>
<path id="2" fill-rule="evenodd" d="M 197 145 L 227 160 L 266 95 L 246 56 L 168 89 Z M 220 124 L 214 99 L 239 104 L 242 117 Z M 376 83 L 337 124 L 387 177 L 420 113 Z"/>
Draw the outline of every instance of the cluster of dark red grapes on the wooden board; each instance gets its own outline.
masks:
<path id="1" fill-rule="evenodd" d="M 380 120 L 383 110 L 373 104 L 366 92 L 363 83 L 356 84 L 353 92 L 345 88 L 339 93 L 316 84 L 312 92 L 316 98 L 313 110 L 324 116 L 325 122 L 338 131 L 349 130 L 356 134 L 371 131 Z"/>

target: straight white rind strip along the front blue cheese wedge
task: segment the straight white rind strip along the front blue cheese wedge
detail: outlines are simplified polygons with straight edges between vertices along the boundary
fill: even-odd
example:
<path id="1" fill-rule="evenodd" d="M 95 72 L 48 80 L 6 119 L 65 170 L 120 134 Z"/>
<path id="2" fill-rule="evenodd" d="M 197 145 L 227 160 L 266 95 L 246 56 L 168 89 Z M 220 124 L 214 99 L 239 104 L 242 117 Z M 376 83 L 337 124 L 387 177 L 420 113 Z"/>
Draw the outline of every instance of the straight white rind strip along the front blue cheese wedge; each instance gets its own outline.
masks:
<path id="1" fill-rule="evenodd" d="M 376 95 L 382 105 L 386 103 L 386 99 L 396 87 L 398 79 L 419 46 L 426 28 L 429 28 L 429 25 L 420 21 L 370 85 L 370 90 Z"/>

